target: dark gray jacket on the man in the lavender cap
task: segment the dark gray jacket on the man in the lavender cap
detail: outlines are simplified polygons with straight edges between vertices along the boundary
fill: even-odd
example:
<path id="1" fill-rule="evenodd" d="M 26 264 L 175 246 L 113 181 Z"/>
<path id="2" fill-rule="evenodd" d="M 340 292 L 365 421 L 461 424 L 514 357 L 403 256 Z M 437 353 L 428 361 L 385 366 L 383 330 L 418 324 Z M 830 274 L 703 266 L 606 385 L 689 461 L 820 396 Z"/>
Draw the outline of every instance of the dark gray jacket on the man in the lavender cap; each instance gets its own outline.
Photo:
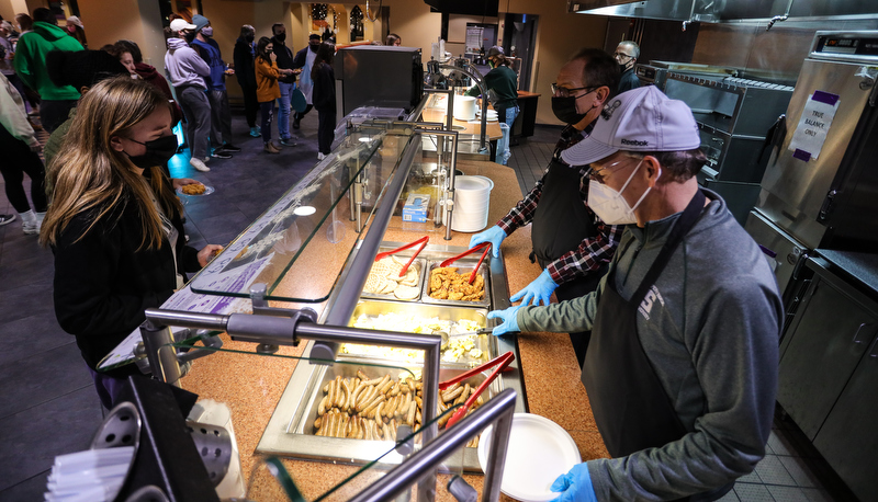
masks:
<path id="1" fill-rule="evenodd" d="M 781 300 L 759 248 L 722 198 L 705 193 L 710 203 L 637 319 L 641 345 L 688 434 L 627 457 L 589 460 L 600 501 L 674 500 L 711 491 L 750 474 L 765 455 Z M 611 263 L 623 298 L 640 286 L 679 215 L 626 229 Z M 590 330 L 606 281 L 575 300 L 522 308 L 521 331 Z"/>

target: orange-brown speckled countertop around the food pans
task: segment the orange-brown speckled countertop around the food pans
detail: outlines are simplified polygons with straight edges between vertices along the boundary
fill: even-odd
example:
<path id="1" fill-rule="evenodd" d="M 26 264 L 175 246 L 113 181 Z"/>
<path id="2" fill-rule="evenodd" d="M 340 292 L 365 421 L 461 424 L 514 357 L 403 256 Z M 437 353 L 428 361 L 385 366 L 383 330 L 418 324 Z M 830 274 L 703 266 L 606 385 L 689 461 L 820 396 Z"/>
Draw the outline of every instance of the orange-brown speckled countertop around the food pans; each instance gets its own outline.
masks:
<path id="1" fill-rule="evenodd" d="M 521 198 L 515 171 L 493 162 L 459 161 L 458 168 L 465 174 L 485 175 L 494 180 L 491 193 L 488 225 L 496 223 Z M 405 231 L 398 223 L 392 223 L 384 240 L 407 242 L 420 235 Z M 353 233 L 353 232 L 348 232 Z M 449 246 L 466 247 L 471 233 L 452 232 Z M 438 239 L 437 239 L 438 240 Z M 510 292 L 518 292 L 540 274 L 540 267 L 531 264 L 530 227 L 521 228 L 503 243 L 506 275 Z M 294 271 L 291 271 L 294 272 Z M 334 281 L 334 277 L 328 278 Z M 288 277 L 300 282 L 307 277 Z M 290 306 L 290 304 L 286 304 Z M 296 305 L 293 305 L 296 307 Z M 312 306 L 315 307 L 315 306 Z M 316 306 L 322 309 L 323 306 Z M 224 349 L 252 353 L 251 343 L 233 342 L 224 338 Z M 545 417 L 566 430 L 584 460 L 608 456 L 600 434 L 595 425 L 585 388 L 579 381 L 579 368 L 566 333 L 524 333 L 518 339 L 520 365 L 525 379 L 528 406 L 531 413 Z M 300 347 L 281 347 L 281 355 L 301 355 Z M 232 410 L 235 435 L 240 452 L 245 480 L 250 478 L 256 445 L 295 368 L 294 358 L 262 357 L 241 353 L 218 353 L 198 360 L 182 380 L 187 390 L 202 399 L 214 399 L 226 403 Z M 334 486 L 340 483 L 357 468 L 320 461 L 285 459 L 296 486 L 307 500 L 318 499 Z M 370 481 L 358 479 L 351 487 L 340 490 L 326 500 L 345 500 Z M 481 476 L 464 476 L 481 490 Z M 257 501 L 283 500 L 275 483 L 264 472 L 254 475 L 251 499 Z M 440 490 L 443 492 L 444 490 Z M 438 500 L 444 500 L 440 493 Z M 510 500 L 505 495 L 502 500 Z"/>

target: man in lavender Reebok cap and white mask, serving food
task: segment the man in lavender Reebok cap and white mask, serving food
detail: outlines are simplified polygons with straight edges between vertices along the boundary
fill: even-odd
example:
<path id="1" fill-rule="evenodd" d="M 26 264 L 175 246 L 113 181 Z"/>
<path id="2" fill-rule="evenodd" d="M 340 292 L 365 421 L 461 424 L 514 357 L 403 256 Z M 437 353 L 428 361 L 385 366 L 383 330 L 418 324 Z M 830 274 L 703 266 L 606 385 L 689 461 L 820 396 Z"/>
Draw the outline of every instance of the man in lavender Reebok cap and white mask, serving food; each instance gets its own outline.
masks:
<path id="1" fill-rule="evenodd" d="M 592 164 L 588 202 L 627 224 L 594 293 L 511 307 L 507 331 L 592 330 L 582 379 L 611 458 L 574 466 L 561 501 L 713 501 L 765 455 L 783 304 L 759 247 L 701 189 L 691 110 L 654 85 L 611 99 L 562 158 Z"/>

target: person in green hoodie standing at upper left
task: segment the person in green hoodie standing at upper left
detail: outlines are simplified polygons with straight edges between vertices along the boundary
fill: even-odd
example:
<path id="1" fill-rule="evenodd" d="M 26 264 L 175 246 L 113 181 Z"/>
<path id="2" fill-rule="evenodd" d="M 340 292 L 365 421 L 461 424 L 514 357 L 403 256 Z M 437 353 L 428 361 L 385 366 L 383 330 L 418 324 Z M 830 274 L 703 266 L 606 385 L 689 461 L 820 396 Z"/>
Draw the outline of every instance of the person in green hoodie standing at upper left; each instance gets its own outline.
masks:
<path id="1" fill-rule="evenodd" d="M 15 75 L 40 93 L 40 123 L 52 133 L 67 119 L 67 112 L 76 106 L 79 92 L 70 85 L 57 87 L 46 73 L 46 54 L 52 50 L 83 50 L 82 44 L 67 36 L 55 21 L 50 10 L 34 9 L 34 30 L 19 37 L 15 47 Z"/>

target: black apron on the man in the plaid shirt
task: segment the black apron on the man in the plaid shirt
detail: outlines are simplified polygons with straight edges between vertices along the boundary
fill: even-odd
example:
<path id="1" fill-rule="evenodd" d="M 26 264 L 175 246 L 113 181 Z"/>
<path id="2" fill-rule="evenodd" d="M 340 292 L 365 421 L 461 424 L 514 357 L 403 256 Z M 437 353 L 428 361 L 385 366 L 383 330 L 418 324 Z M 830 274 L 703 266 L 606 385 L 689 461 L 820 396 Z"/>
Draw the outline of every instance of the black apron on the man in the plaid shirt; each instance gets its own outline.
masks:
<path id="1" fill-rule="evenodd" d="M 579 195 L 579 170 L 552 159 L 531 223 L 533 254 L 540 266 L 576 249 L 583 239 L 597 235 L 595 217 Z"/>

